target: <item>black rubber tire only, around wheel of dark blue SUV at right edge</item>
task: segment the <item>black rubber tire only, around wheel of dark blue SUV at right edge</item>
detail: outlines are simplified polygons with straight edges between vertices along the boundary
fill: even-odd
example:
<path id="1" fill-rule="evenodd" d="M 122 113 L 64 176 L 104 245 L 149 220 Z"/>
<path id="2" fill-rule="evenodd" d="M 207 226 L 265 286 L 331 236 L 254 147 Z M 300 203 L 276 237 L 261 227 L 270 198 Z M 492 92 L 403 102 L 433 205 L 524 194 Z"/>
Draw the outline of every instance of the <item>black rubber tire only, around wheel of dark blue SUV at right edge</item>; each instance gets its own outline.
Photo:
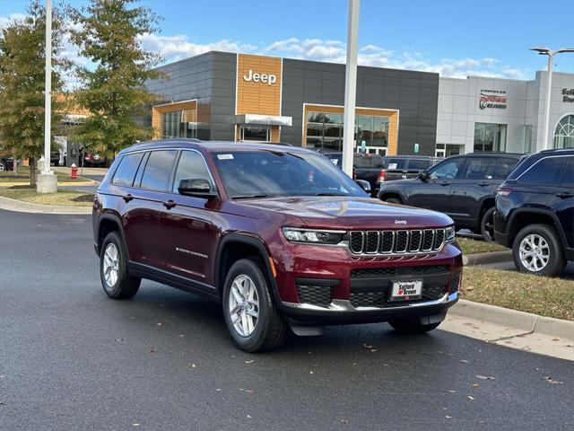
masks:
<path id="1" fill-rule="evenodd" d="M 532 270 L 526 267 L 520 259 L 520 244 L 529 235 L 542 237 L 548 246 L 548 259 L 544 268 Z M 530 224 L 518 232 L 512 242 L 512 257 L 514 258 L 515 266 L 520 272 L 536 274 L 538 276 L 557 276 L 561 274 L 566 266 L 566 259 L 562 251 L 560 238 L 556 229 L 550 224 Z M 528 261 L 528 259 L 526 259 L 526 261 Z"/>

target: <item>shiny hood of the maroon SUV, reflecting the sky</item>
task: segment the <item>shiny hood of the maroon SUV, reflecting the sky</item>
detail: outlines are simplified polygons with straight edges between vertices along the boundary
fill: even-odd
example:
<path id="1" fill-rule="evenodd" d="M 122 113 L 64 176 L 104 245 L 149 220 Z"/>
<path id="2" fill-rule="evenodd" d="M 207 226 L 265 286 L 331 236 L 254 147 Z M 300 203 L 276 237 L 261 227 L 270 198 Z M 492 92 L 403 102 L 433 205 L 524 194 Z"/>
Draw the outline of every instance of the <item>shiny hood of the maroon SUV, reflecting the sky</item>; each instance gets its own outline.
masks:
<path id="1" fill-rule="evenodd" d="M 450 217 L 421 208 L 389 204 L 375 198 L 262 198 L 241 206 L 300 217 L 309 227 L 325 229 L 415 229 L 452 224 Z"/>

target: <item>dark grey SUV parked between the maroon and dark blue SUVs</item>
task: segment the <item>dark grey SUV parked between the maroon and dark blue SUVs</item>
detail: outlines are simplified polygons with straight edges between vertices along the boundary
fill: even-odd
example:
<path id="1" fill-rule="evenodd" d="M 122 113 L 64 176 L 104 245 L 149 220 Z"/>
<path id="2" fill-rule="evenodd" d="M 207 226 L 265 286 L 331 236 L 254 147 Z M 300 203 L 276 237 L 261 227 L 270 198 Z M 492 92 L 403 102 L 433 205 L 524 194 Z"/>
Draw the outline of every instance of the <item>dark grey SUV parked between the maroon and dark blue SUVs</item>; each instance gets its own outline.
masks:
<path id="1" fill-rule="evenodd" d="M 378 198 L 450 216 L 459 229 L 493 241 L 494 198 L 522 154 L 471 153 L 448 157 L 417 178 L 380 184 Z"/>

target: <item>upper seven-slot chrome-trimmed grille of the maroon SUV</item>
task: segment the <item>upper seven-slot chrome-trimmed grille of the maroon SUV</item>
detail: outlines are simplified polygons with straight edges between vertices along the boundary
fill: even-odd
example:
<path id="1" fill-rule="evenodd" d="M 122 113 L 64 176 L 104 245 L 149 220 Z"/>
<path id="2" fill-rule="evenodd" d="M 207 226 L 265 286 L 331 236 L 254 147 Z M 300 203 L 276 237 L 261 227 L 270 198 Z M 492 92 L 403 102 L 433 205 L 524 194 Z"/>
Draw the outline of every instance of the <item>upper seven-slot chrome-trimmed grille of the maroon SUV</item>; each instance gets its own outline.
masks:
<path id="1" fill-rule="evenodd" d="M 352 231 L 349 248 L 353 254 L 408 254 L 440 251 L 445 242 L 444 229 L 401 231 Z"/>

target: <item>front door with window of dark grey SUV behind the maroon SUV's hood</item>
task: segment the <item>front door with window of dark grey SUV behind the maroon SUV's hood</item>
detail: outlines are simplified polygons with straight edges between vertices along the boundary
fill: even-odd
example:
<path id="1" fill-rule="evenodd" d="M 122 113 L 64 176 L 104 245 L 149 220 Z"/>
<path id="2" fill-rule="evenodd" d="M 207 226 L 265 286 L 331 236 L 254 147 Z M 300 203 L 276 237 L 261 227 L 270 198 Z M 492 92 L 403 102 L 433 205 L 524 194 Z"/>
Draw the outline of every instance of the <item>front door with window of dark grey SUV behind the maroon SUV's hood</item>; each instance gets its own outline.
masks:
<path id="1" fill-rule="evenodd" d="M 450 215 L 450 188 L 464 164 L 462 157 L 451 157 L 433 166 L 427 180 L 413 180 L 408 189 L 404 188 L 405 204 Z"/>

